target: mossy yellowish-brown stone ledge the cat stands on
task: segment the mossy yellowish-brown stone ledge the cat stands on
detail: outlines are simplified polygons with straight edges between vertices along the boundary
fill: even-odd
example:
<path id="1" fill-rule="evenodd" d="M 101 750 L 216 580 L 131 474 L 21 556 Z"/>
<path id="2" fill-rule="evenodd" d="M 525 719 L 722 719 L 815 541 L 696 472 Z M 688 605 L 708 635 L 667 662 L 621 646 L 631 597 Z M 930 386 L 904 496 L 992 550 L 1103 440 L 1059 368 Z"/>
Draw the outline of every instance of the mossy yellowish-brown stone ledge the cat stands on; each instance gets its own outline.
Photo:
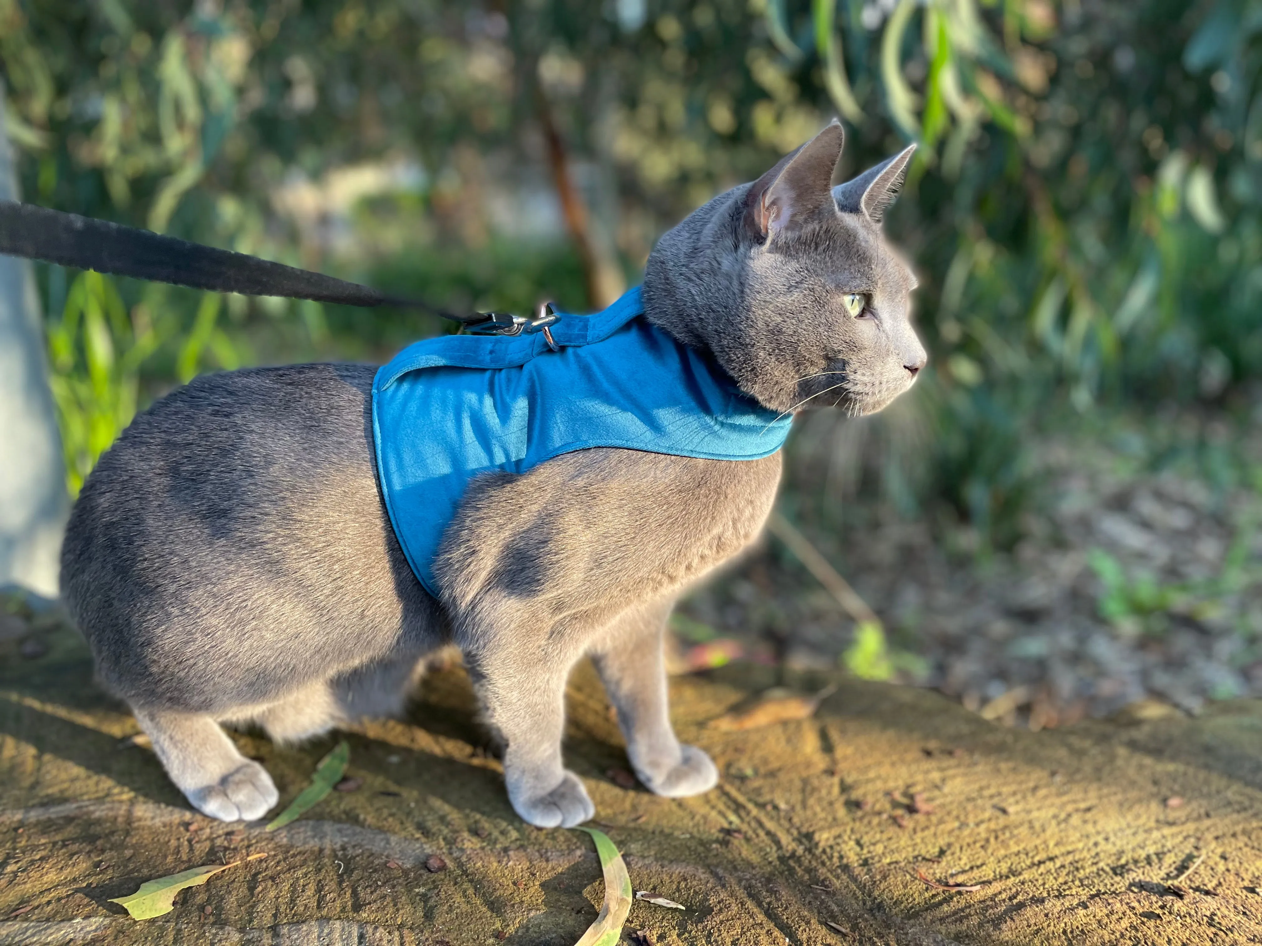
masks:
<path id="1" fill-rule="evenodd" d="M 268 832 L 194 814 L 78 636 L 45 624 L 0 642 L 0 943 L 569 946 L 596 917 L 591 840 L 514 815 L 459 667 L 427 677 L 406 720 L 346 734 L 357 790 Z M 636 902 L 623 941 L 1262 943 L 1262 703 L 1030 733 L 933 692 L 837 682 L 814 718 L 721 732 L 707 723 L 770 671 L 673 680 L 679 734 L 723 781 L 670 801 L 620 785 L 604 694 L 575 672 L 568 764 L 635 888 L 687 906 Z M 283 803 L 334 743 L 233 738 Z M 109 903 L 260 851 L 163 917 Z M 435 854 L 445 869 L 427 868 Z"/>

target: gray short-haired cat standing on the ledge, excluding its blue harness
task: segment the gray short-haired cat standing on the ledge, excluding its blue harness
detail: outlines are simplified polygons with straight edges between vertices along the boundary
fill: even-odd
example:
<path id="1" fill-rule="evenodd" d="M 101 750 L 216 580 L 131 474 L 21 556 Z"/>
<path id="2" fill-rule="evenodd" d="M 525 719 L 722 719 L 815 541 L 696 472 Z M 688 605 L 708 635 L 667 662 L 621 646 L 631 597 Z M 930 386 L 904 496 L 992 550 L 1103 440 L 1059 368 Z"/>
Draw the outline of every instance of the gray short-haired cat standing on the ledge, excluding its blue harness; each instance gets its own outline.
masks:
<path id="1" fill-rule="evenodd" d="M 645 272 L 646 317 L 777 412 L 876 411 L 925 363 L 915 277 L 880 230 L 912 149 L 830 188 L 840 150 L 834 122 L 668 232 Z M 454 643 L 530 824 L 594 814 L 560 753 L 584 655 L 640 781 L 668 797 L 713 787 L 714 763 L 670 727 L 663 628 L 762 528 L 779 453 L 599 448 L 488 476 L 444 534 L 434 598 L 382 507 L 372 378 L 353 365 L 199 377 L 138 416 L 83 487 L 66 602 L 172 781 L 206 815 L 261 817 L 276 788 L 221 723 L 294 742 L 398 713 L 422 658 Z"/>

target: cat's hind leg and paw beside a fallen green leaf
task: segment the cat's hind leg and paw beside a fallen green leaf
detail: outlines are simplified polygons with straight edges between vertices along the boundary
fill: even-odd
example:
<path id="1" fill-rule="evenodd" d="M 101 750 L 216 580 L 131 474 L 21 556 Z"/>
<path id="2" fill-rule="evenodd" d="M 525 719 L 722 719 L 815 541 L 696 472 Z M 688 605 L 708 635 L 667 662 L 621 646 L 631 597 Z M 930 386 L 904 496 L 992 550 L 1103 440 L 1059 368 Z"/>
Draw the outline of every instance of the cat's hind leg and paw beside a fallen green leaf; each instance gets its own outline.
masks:
<path id="1" fill-rule="evenodd" d="M 135 710 L 135 715 L 170 781 L 203 815 L 254 821 L 279 800 L 268 771 L 237 752 L 209 716 L 169 710 Z"/>

